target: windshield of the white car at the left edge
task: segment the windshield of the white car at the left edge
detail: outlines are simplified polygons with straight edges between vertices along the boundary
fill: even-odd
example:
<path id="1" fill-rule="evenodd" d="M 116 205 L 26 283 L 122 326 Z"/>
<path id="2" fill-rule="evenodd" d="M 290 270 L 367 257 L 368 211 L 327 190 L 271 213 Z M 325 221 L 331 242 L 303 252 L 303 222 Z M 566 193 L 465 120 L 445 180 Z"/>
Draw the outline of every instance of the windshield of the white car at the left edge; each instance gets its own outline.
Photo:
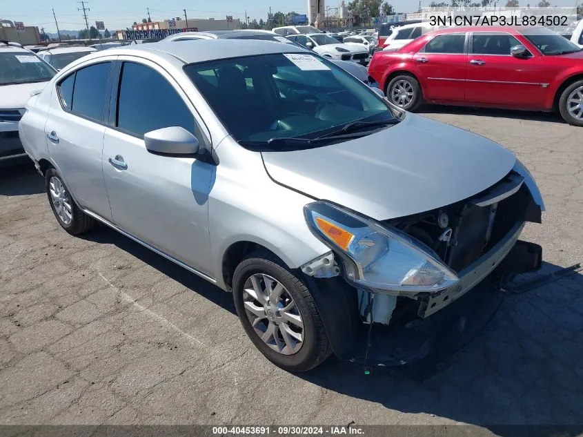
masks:
<path id="1" fill-rule="evenodd" d="M 0 85 L 46 82 L 55 70 L 30 52 L 0 53 Z"/>

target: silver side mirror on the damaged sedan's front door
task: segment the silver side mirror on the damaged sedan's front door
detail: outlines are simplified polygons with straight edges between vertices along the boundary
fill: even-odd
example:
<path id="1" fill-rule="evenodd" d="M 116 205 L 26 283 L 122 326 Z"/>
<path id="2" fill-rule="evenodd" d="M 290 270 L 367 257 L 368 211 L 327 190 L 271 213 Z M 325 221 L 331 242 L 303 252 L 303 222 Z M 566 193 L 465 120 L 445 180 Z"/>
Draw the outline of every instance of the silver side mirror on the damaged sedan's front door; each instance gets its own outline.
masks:
<path id="1" fill-rule="evenodd" d="M 200 149 L 197 137 L 179 126 L 151 130 L 144 135 L 144 143 L 148 151 L 165 155 L 194 155 Z"/>

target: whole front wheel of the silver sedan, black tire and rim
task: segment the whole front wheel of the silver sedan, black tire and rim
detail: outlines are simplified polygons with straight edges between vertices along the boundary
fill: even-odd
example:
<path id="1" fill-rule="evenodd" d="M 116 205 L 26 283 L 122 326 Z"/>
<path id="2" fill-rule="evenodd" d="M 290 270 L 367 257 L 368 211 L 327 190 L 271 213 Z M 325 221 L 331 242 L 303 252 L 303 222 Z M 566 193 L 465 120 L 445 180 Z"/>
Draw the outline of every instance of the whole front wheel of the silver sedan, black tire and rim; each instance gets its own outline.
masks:
<path id="1" fill-rule="evenodd" d="M 286 371 L 308 371 L 330 355 L 324 323 L 306 284 L 275 255 L 258 251 L 235 269 L 233 298 L 250 340 Z"/>

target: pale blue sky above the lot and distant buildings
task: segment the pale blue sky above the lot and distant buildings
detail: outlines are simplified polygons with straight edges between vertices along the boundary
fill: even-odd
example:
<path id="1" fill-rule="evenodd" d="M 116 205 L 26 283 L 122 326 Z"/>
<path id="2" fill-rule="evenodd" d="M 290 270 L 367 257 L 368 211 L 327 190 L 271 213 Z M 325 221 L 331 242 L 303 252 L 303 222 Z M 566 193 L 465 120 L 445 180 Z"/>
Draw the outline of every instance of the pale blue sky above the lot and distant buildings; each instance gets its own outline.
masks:
<path id="1" fill-rule="evenodd" d="M 422 6 L 428 6 L 431 0 L 422 0 Z M 535 3 L 536 0 L 520 0 L 520 3 Z M 79 30 L 85 28 L 81 2 L 76 0 L 2 0 L 0 5 L 0 19 L 23 21 L 26 26 L 44 27 L 46 32 L 57 32 L 55 19 L 51 8 L 55 8 L 59 29 Z M 326 6 L 335 8 L 339 0 L 326 0 Z M 346 0 L 348 3 L 348 0 Z M 419 0 L 388 0 L 397 12 L 415 12 L 419 7 Z M 504 3 L 504 0 L 500 0 Z M 575 0 L 551 0 L 553 6 L 575 6 Z M 245 11 L 251 20 L 267 19 L 271 7 L 272 12 L 290 12 L 295 10 L 306 14 L 308 0 L 88 0 L 85 2 L 89 26 L 95 21 L 105 21 L 109 30 L 125 29 L 134 21 L 141 21 L 147 17 L 146 8 L 150 8 L 152 21 L 161 21 L 170 17 L 179 17 L 184 14 L 189 18 L 224 19 L 226 15 L 244 19 Z"/>

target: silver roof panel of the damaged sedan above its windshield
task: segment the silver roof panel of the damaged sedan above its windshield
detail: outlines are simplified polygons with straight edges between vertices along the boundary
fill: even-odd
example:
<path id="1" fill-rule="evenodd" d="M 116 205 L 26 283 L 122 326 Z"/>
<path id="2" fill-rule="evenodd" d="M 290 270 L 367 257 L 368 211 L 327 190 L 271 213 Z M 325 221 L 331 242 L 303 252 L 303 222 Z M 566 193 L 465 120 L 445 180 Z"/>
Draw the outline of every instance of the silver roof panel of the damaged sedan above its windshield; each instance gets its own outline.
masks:
<path id="1" fill-rule="evenodd" d="M 181 41 L 179 44 L 172 41 L 160 41 L 144 46 L 110 48 L 103 53 L 104 55 L 132 55 L 136 52 L 152 53 L 152 55 L 167 54 L 186 64 L 191 64 L 216 59 L 270 55 L 272 53 L 302 53 L 308 52 L 308 50 L 293 44 L 258 39 L 200 39 L 198 41 Z"/>

